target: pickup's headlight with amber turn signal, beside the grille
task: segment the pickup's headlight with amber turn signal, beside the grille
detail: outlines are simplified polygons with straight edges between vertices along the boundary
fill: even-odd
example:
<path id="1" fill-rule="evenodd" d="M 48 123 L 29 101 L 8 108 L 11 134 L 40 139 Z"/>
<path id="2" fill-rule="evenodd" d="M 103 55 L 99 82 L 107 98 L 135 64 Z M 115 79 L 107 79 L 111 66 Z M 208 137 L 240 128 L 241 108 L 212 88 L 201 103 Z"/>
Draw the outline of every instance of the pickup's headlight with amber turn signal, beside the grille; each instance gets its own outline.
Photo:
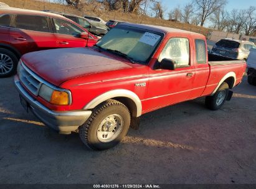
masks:
<path id="1" fill-rule="evenodd" d="M 58 91 L 50 88 L 47 85 L 42 85 L 39 91 L 39 96 L 44 98 L 51 104 L 68 105 L 69 94 L 65 91 Z"/>

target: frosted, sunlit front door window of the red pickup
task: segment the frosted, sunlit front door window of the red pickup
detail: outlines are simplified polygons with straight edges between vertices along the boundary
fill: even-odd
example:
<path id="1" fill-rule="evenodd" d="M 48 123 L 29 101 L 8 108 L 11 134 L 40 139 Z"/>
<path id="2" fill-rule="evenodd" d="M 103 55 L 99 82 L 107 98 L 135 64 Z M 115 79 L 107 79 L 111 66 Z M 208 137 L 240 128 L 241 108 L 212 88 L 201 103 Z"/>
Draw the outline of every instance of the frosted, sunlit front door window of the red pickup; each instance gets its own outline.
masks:
<path id="1" fill-rule="evenodd" d="M 189 40 L 186 38 L 172 38 L 165 45 L 158 61 L 161 62 L 164 58 L 172 59 L 176 65 L 189 65 Z"/>

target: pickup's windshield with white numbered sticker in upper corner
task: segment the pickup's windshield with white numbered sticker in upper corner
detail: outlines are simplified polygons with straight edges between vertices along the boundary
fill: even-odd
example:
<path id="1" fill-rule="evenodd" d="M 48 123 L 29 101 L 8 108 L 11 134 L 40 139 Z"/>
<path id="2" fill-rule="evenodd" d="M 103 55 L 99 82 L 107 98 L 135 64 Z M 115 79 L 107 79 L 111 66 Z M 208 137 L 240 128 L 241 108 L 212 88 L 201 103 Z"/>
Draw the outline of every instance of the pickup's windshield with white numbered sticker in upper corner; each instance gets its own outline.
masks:
<path id="1" fill-rule="evenodd" d="M 120 52 L 135 62 L 147 63 L 164 34 L 135 27 L 118 26 L 97 43 L 99 48 Z"/>

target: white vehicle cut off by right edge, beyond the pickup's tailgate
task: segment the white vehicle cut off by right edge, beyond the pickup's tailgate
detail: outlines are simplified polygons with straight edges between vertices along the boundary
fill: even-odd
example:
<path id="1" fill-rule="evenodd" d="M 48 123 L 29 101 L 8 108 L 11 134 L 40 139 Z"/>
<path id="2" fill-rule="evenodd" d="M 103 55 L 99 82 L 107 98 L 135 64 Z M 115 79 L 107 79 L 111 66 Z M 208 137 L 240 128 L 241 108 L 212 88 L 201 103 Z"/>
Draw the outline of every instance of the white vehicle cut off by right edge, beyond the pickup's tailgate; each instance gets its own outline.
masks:
<path id="1" fill-rule="evenodd" d="M 247 59 L 247 75 L 248 83 L 250 85 L 256 85 L 256 49 L 250 49 L 250 55 Z"/>

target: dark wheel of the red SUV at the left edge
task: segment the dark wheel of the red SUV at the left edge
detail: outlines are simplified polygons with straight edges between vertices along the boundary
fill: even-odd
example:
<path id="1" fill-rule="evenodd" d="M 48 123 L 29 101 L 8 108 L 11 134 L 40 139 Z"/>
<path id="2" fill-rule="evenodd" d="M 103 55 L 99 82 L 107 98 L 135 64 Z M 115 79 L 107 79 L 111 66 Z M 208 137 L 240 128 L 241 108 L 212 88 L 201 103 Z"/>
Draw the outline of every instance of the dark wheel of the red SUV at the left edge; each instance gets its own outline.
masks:
<path id="1" fill-rule="evenodd" d="M 17 70 L 18 59 L 10 50 L 0 48 L 0 78 L 14 75 Z"/>

